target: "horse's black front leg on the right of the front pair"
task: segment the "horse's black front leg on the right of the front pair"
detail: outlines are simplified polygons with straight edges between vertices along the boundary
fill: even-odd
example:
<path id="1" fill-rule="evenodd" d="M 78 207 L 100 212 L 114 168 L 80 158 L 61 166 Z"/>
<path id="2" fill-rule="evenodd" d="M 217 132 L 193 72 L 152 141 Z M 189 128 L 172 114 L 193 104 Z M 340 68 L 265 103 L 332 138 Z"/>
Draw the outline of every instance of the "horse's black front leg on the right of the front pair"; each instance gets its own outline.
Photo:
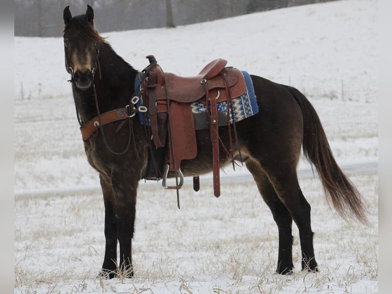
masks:
<path id="1" fill-rule="evenodd" d="M 135 232 L 138 179 L 126 177 L 123 173 L 113 175 L 112 186 L 116 202 L 117 238 L 120 243 L 119 274 L 132 278 L 132 238 Z"/>

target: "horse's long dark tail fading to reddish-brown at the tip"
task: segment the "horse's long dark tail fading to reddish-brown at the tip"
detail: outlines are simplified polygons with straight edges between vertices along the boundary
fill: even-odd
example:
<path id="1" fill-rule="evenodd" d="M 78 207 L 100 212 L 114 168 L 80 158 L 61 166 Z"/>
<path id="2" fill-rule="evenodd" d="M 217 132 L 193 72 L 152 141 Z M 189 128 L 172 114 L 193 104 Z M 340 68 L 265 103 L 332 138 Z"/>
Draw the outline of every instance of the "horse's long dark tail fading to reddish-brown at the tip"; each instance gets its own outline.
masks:
<path id="1" fill-rule="evenodd" d="M 368 224 L 361 196 L 336 163 L 316 110 L 297 89 L 289 87 L 289 90 L 302 110 L 303 155 L 316 167 L 326 198 L 344 219 L 355 216 L 362 223 Z"/>

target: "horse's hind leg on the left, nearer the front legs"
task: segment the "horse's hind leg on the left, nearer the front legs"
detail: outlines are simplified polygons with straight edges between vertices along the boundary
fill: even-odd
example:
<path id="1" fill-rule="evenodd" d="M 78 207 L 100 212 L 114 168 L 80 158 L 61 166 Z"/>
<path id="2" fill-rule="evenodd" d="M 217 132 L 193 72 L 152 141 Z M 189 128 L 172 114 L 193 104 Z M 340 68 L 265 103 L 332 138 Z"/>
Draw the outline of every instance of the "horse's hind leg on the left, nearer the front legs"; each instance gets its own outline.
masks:
<path id="1" fill-rule="evenodd" d="M 267 174 L 262 170 L 258 162 L 252 159 L 246 161 L 249 172 L 256 181 L 258 191 L 264 201 L 271 209 L 273 218 L 278 226 L 279 231 L 279 253 L 276 272 L 278 274 L 290 274 L 293 270 L 292 244 L 291 235 L 292 218 L 286 206 L 276 195 L 273 185 L 269 181 Z"/>

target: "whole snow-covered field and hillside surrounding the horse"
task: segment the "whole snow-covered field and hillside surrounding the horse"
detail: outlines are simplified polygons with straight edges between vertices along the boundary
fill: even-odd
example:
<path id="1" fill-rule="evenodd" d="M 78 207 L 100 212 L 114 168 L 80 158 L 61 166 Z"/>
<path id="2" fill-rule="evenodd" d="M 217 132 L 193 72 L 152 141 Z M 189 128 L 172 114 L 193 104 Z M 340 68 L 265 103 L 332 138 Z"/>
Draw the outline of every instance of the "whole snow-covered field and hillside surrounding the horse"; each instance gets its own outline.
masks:
<path id="1" fill-rule="evenodd" d="M 228 66 L 298 88 L 313 103 L 338 163 L 365 199 L 372 226 L 338 217 L 301 161 L 320 272 L 300 271 L 293 226 L 296 270 L 281 276 L 274 274 L 277 227 L 245 168 L 221 173 L 218 199 L 209 176 L 198 193 L 186 179 L 180 210 L 175 192 L 143 182 L 135 278 L 96 278 L 104 253 L 103 200 L 98 175 L 84 155 L 62 38 L 15 37 L 15 293 L 378 292 L 377 1 L 102 35 L 137 69 L 154 54 L 164 71 L 187 76 L 221 57 Z"/>

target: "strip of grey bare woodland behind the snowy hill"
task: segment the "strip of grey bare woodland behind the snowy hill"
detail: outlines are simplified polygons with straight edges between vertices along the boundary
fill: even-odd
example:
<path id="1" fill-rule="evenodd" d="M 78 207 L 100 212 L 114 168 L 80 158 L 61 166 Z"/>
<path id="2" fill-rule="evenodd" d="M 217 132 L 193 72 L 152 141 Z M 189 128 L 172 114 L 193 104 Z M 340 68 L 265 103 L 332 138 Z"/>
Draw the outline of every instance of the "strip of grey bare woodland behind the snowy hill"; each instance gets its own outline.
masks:
<path id="1" fill-rule="evenodd" d="M 62 12 L 94 8 L 99 32 L 175 27 L 236 15 L 334 0 L 14 0 L 16 36 L 62 35 Z M 336 0 L 335 0 L 336 1 Z"/>

